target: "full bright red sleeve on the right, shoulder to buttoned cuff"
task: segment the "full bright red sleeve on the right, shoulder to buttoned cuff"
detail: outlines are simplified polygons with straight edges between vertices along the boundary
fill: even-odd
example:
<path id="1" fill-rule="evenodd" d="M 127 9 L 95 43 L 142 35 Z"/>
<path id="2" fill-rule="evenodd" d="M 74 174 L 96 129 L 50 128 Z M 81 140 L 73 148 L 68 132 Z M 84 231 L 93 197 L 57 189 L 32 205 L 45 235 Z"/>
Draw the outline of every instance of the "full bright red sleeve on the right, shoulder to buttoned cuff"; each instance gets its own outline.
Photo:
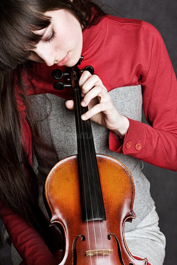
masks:
<path id="1" fill-rule="evenodd" d="M 124 141 L 110 132 L 109 148 L 153 165 L 177 171 L 177 82 L 163 39 L 155 27 L 143 22 L 141 49 L 144 71 L 143 109 L 150 125 L 130 121 Z"/>

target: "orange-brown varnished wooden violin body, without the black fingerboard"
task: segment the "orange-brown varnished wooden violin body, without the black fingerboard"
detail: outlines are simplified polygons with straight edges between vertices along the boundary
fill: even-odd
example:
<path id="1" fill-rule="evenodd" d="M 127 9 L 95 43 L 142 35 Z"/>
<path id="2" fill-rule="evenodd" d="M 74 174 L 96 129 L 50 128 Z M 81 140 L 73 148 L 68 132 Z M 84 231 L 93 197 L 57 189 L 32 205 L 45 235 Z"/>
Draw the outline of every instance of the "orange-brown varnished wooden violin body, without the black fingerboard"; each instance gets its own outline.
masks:
<path id="1" fill-rule="evenodd" d="M 60 265 L 139 265 L 124 239 L 124 223 L 135 218 L 135 188 L 129 170 L 118 160 L 96 155 L 106 220 L 82 221 L 77 156 L 58 162 L 45 182 L 51 225 L 63 232 Z M 130 192 L 131 191 L 131 192 Z M 50 195 L 49 195 L 50 194 Z"/>

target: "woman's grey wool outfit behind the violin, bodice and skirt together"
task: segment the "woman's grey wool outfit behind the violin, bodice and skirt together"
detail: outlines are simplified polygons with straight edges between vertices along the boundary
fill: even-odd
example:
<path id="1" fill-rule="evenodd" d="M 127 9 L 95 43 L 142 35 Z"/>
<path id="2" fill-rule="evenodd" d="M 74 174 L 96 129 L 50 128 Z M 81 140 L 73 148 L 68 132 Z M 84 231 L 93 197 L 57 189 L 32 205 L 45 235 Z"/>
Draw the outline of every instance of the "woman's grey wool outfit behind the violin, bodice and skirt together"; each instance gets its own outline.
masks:
<path id="1" fill-rule="evenodd" d="M 109 92 L 117 110 L 131 119 L 141 121 L 141 86 L 119 87 Z M 47 174 L 59 160 L 77 154 L 74 111 L 65 107 L 65 99 L 52 94 L 30 96 L 37 121 L 40 141 L 35 145 L 35 159 L 41 186 Z M 148 258 L 151 265 L 162 265 L 165 256 L 165 236 L 158 227 L 158 215 L 150 196 L 150 183 L 140 170 L 140 160 L 109 150 L 109 130 L 91 122 L 96 153 L 121 161 L 131 172 L 135 184 L 133 211 L 136 218 L 124 226 L 125 239 L 132 255 Z M 60 183 L 59 183 L 60 184 Z M 45 211 L 45 209 L 44 209 Z M 19 265 L 22 259 L 12 245 L 12 260 Z"/>

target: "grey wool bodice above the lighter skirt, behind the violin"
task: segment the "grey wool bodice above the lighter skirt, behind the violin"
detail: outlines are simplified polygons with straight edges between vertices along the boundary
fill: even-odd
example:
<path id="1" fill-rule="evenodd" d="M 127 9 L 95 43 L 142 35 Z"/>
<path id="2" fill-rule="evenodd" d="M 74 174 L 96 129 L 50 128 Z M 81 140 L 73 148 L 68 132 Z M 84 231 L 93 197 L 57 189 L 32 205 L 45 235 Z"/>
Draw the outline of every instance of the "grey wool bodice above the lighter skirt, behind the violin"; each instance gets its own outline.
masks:
<path id="1" fill-rule="evenodd" d="M 117 110 L 124 116 L 141 121 L 141 86 L 119 87 L 109 92 Z M 30 96 L 41 144 L 35 146 L 38 175 L 41 184 L 50 169 L 61 159 L 77 154 L 74 111 L 65 107 L 65 99 L 41 94 Z M 135 183 L 133 210 L 136 218 L 128 223 L 126 231 L 133 230 L 153 208 L 150 183 L 140 170 L 140 160 L 109 150 L 109 130 L 91 122 L 96 153 L 109 155 L 121 161 L 131 172 Z"/>

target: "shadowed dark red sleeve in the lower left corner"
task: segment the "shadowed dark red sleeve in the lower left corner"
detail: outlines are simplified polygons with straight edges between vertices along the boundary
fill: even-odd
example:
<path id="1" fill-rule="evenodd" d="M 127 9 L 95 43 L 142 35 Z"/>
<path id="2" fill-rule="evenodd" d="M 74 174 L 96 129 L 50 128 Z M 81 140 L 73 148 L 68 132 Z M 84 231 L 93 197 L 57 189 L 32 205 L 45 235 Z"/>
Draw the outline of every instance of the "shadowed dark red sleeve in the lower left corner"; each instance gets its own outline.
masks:
<path id="1" fill-rule="evenodd" d="M 57 265 L 40 235 L 0 201 L 0 217 L 19 255 L 28 265 Z"/>

